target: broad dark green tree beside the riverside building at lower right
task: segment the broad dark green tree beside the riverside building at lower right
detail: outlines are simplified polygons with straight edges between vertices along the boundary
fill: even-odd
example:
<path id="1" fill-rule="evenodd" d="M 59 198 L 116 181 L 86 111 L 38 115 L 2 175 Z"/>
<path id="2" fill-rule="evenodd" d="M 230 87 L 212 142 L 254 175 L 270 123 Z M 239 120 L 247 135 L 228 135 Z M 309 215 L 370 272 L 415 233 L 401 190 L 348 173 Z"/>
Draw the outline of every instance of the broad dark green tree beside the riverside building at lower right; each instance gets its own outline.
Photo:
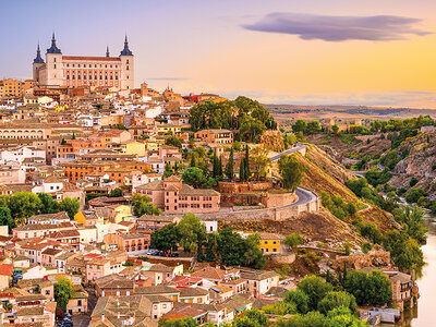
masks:
<path id="1" fill-rule="evenodd" d="M 384 305 L 392 299 L 390 281 L 379 270 L 353 270 L 344 278 L 343 287 L 359 305 Z"/>

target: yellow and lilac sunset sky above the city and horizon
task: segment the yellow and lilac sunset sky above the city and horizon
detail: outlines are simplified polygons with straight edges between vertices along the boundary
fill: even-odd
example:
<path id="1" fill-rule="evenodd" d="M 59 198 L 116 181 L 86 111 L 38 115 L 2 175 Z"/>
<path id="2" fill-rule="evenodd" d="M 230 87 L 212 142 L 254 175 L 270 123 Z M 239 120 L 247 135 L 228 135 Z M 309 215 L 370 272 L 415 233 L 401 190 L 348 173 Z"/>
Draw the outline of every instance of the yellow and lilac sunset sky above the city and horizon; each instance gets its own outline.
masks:
<path id="1" fill-rule="evenodd" d="M 0 0 L 0 78 L 64 55 L 119 56 L 135 85 L 264 104 L 436 108 L 434 0 Z"/>

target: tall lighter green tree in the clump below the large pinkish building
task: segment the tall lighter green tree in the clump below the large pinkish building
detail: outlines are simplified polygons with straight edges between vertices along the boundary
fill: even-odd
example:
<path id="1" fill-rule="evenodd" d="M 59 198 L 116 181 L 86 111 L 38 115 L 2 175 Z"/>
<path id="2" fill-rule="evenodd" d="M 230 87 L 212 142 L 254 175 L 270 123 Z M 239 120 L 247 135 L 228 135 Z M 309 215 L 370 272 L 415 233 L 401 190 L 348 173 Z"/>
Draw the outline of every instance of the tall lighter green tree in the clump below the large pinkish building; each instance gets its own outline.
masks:
<path id="1" fill-rule="evenodd" d="M 195 253 L 202 249 L 206 240 L 206 228 L 194 214 L 185 214 L 178 226 L 180 245 L 185 252 Z"/>

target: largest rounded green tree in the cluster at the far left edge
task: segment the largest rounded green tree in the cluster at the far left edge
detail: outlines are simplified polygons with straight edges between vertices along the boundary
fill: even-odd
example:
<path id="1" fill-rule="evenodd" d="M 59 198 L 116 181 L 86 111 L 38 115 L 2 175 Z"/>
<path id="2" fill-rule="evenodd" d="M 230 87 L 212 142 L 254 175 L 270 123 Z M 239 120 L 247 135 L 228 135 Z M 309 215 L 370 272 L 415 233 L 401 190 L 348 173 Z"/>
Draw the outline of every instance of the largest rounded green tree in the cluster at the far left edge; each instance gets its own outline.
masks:
<path id="1" fill-rule="evenodd" d="M 16 192 L 9 198 L 9 209 L 16 223 L 25 223 L 26 218 L 43 209 L 43 202 L 32 192 Z"/>

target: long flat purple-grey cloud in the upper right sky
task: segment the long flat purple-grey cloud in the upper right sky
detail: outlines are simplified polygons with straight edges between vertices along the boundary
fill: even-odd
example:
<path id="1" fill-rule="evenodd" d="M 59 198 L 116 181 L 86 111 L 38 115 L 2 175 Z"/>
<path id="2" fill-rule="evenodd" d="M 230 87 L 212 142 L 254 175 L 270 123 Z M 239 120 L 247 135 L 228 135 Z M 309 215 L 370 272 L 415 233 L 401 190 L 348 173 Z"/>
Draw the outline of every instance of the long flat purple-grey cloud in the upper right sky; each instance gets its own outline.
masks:
<path id="1" fill-rule="evenodd" d="M 422 20 L 395 16 L 331 16 L 298 13 L 270 13 L 261 21 L 242 25 L 257 32 L 298 35 L 302 39 L 325 41 L 374 40 L 389 41 L 407 39 L 408 35 L 425 36 L 431 32 L 414 25 Z"/>

